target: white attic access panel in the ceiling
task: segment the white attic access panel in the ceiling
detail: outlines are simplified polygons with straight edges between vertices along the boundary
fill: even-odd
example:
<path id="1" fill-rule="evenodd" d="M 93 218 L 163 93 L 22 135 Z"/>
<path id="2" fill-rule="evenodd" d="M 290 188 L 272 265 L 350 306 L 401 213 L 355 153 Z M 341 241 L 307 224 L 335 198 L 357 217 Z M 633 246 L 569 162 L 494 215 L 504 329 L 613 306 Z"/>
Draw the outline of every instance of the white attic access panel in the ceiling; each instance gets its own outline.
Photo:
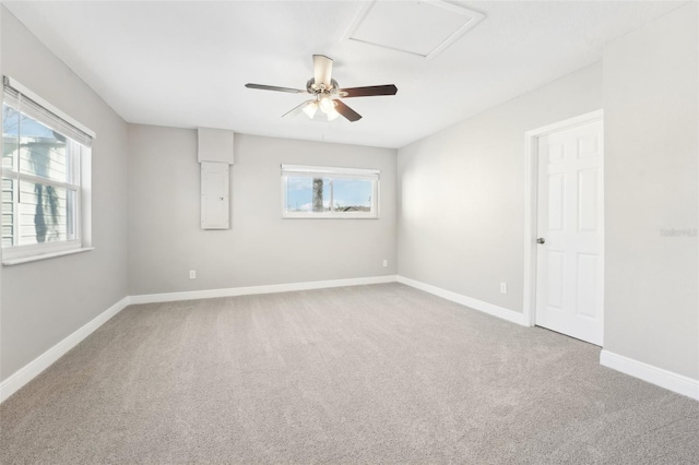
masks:
<path id="1" fill-rule="evenodd" d="M 362 8 L 345 38 L 429 60 L 484 17 L 441 0 L 374 0 Z"/>

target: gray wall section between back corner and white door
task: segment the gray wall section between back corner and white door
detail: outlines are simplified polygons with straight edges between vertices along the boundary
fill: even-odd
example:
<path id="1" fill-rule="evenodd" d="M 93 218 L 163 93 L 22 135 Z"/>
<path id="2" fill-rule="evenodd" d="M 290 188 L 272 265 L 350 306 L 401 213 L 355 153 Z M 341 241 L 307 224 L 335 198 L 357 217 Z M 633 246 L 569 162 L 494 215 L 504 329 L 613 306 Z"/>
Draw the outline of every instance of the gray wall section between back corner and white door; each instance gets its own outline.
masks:
<path id="1" fill-rule="evenodd" d="M 597 63 L 401 148 L 399 274 L 522 312 L 524 132 L 600 108 Z"/>

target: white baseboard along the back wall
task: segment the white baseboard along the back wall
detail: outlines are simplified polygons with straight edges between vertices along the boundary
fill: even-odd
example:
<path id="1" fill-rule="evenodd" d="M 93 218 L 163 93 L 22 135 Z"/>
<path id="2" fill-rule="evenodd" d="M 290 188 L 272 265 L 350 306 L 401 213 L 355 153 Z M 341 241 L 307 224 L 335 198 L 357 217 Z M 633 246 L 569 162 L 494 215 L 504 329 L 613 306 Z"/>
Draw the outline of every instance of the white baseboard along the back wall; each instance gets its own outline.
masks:
<path id="1" fill-rule="evenodd" d="M 308 283 L 272 284 L 266 286 L 229 287 L 224 289 L 190 290 L 185 293 L 144 294 L 131 296 L 130 303 L 171 302 L 176 300 L 211 299 L 215 297 L 250 296 L 253 294 L 288 293 L 292 290 L 324 289 L 328 287 L 360 286 L 395 283 L 395 275 L 354 277 L 347 279 L 312 281 Z"/>

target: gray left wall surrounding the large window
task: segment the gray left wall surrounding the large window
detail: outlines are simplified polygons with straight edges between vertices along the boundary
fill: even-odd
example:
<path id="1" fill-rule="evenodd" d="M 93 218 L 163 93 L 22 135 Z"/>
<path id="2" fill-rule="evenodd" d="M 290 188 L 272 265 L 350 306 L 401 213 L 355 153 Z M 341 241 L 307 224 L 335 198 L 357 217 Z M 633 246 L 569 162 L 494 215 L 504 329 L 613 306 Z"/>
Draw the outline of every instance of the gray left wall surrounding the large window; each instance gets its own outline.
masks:
<path id="1" fill-rule="evenodd" d="M 2 71 L 97 133 L 93 148 L 96 250 L 2 267 L 0 379 L 127 295 L 126 122 L 2 9 Z"/>

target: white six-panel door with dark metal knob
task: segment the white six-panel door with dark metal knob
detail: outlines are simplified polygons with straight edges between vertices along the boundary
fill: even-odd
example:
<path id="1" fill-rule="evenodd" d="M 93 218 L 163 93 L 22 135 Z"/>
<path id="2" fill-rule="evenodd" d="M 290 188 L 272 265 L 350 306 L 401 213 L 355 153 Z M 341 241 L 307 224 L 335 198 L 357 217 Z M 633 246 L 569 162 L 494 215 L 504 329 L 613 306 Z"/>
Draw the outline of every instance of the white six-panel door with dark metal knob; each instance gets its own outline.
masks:
<path id="1" fill-rule="evenodd" d="M 600 346 L 603 142 L 594 121 L 542 135 L 537 150 L 536 324 Z"/>

